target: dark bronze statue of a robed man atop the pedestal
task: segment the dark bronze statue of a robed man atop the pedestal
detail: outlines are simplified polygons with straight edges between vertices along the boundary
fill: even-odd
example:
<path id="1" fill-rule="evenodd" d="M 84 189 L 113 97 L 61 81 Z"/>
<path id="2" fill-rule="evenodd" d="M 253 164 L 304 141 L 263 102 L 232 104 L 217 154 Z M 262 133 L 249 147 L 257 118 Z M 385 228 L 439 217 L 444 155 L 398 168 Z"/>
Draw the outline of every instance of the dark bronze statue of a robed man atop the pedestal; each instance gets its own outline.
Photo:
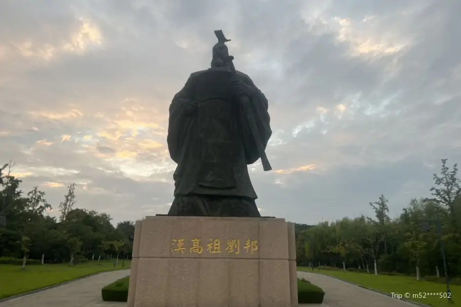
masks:
<path id="1" fill-rule="evenodd" d="M 229 64 L 220 41 L 211 68 L 191 74 L 170 105 L 167 143 L 178 166 L 168 215 L 261 216 L 247 168 L 260 153 L 238 98 L 249 98 L 246 110 L 253 112 L 264 148 L 272 133 L 268 103 L 252 79 Z"/>

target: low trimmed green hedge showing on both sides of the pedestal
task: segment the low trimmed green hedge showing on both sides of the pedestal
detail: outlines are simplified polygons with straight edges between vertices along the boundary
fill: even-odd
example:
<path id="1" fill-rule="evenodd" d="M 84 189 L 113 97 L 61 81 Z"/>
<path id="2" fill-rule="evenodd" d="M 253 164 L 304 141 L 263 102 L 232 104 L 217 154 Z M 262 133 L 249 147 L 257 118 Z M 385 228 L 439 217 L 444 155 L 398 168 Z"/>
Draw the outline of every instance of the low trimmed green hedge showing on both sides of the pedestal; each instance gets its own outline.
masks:
<path id="1" fill-rule="evenodd" d="M 123 277 L 102 288 L 102 300 L 109 302 L 126 302 L 130 276 Z M 325 292 L 305 279 L 298 278 L 298 303 L 321 304 Z"/>

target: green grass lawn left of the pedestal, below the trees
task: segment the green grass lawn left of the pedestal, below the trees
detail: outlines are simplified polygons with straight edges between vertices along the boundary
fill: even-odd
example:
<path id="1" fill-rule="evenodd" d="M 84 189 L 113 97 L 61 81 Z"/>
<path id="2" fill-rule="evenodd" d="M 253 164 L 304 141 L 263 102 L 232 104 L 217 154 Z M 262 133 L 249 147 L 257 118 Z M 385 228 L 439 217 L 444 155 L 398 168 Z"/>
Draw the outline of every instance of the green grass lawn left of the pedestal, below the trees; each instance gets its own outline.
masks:
<path id="1" fill-rule="evenodd" d="M 123 269 L 130 268 L 130 261 L 125 260 Z M 115 270 L 122 269 L 122 260 L 118 261 Z M 68 264 L 45 264 L 43 266 L 0 265 L 0 299 L 26 293 L 32 290 L 52 286 L 79 277 L 103 271 L 113 271 L 114 260 L 89 260 L 85 264 L 69 266 Z"/>

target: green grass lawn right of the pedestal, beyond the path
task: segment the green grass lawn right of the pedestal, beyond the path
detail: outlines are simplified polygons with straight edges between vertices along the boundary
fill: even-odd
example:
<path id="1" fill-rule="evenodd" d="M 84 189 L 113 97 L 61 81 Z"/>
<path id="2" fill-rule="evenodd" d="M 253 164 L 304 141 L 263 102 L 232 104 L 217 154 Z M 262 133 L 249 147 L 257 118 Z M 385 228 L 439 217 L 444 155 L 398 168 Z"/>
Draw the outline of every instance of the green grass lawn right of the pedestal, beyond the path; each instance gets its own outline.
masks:
<path id="1" fill-rule="evenodd" d="M 312 268 L 298 267 L 298 271 L 312 272 Z M 360 284 L 364 287 L 380 290 L 387 293 L 410 293 L 410 295 L 418 293 L 433 293 L 447 291 L 447 286 L 444 283 L 435 283 L 429 281 L 417 281 L 415 277 L 410 276 L 387 276 L 387 275 L 374 275 L 358 272 L 344 272 L 343 270 L 322 270 L 320 272 L 315 269 L 314 273 L 322 273 L 330 275 L 343 280 L 351 281 Z M 448 306 L 461 306 L 461 286 L 451 285 L 451 299 L 454 302 L 449 304 L 446 298 L 439 298 L 438 296 L 426 296 L 426 298 L 412 298 L 410 300 L 420 302 L 423 304 L 431 305 L 434 307 L 448 307 Z"/>

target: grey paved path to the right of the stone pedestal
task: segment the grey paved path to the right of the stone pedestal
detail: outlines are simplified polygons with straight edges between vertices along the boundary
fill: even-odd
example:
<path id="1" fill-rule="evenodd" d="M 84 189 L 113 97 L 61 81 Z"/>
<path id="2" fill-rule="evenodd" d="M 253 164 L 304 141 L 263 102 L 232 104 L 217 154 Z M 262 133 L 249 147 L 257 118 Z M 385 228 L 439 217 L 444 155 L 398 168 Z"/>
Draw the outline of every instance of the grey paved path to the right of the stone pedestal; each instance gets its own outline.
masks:
<path id="1" fill-rule="evenodd" d="M 323 306 L 328 307 L 416 307 L 389 296 L 366 290 L 353 284 L 325 275 L 298 272 L 298 278 L 304 278 L 325 291 Z M 306 304 L 306 306 L 308 306 Z"/>

